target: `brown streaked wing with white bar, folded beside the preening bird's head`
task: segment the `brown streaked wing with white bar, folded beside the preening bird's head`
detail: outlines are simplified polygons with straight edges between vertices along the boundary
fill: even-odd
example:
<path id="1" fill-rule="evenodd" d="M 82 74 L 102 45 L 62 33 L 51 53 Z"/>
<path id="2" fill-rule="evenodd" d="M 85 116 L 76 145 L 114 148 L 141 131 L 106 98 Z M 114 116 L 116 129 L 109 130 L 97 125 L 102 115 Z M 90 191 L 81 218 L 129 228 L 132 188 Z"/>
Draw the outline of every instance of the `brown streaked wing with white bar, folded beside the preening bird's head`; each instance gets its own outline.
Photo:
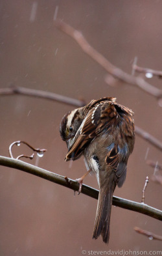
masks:
<path id="1" fill-rule="evenodd" d="M 111 121 L 117 115 L 113 101 L 109 101 L 112 99 L 115 101 L 115 98 L 103 98 L 91 105 L 92 108 L 82 123 L 80 134 L 67 153 L 66 161 L 76 160 L 95 136 L 105 128 L 109 129 L 111 127 Z"/>

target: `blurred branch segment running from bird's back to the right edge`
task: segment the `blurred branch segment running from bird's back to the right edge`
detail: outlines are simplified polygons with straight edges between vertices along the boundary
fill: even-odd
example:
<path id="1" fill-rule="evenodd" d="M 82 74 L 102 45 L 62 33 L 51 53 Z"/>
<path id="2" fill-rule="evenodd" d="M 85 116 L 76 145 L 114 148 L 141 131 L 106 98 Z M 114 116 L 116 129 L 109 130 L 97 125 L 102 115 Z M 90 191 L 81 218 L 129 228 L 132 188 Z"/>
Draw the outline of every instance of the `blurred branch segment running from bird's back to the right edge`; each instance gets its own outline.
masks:
<path id="1" fill-rule="evenodd" d="M 148 134 L 145 130 L 142 128 L 139 128 L 138 126 L 135 126 L 135 133 L 148 141 L 150 144 L 154 145 L 159 150 L 162 150 L 162 143 L 158 139 L 156 139 L 154 136 L 151 134 Z"/>

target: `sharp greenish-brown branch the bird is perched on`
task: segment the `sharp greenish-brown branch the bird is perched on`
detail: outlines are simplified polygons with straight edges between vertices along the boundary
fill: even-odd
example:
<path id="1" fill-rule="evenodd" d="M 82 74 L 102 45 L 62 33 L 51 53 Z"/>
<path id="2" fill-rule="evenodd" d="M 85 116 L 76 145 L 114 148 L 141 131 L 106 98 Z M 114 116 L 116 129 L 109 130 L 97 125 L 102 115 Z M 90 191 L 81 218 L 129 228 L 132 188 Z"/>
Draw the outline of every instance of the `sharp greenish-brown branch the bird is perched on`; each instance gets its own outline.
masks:
<path id="1" fill-rule="evenodd" d="M 27 164 L 20 160 L 0 156 L 0 165 L 11 167 L 14 169 L 19 169 L 21 171 L 25 171 L 26 173 L 30 173 L 32 175 L 45 178 L 46 180 L 49 180 L 51 182 L 60 184 L 67 188 L 71 188 L 71 190 L 78 191 L 79 189 L 79 184 L 78 182 L 76 182 L 76 180 L 68 178 L 67 182 L 67 177 L 60 176 L 58 174 L 52 173 L 51 171 L 41 169 L 40 167 Z M 98 190 L 95 190 L 94 188 L 91 188 L 84 184 L 82 186 L 82 193 L 84 193 L 85 195 L 89 195 L 89 197 L 98 199 Z M 162 211 L 145 204 L 113 196 L 113 205 L 125 208 L 127 210 L 133 210 L 134 212 L 140 212 L 141 214 L 146 214 L 147 216 L 162 221 Z"/>

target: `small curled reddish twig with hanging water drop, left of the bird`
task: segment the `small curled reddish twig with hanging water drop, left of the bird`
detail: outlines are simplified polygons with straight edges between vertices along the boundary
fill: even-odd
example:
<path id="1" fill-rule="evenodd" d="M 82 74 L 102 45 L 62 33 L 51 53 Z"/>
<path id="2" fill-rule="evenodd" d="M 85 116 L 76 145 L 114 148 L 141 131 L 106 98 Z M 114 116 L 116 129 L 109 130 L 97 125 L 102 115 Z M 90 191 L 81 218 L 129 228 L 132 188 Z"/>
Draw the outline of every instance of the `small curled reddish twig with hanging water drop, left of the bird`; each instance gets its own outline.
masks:
<path id="1" fill-rule="evenodd" d="M 34 147 L 32 147 L 29 143 L 25 142 L 25 141 L 14 141 L 8 151 L 9 151 L 9 155 L 10 155 L 10 158 L 14 158 L 13 154 L 12 154 L 12 147 L 14 145 L 17 145 L 17 146 L 20 146 L 20 144 L 25 144 L 27 145 L 27 147 L 29 147 L 30 149 L 32 149 L 34 152 L 37 152 L 38 156 L 43 156 L 44 152 L 47 151 L 47 149 L 35 149 Z M 17 160 L 19 160 L 19 158 L 29 158 L 29 159 L 33 159 L 34 158 L 34 153 L 31 155 L 31 156 L 26 156 L 25 154 L 21 154 L 20 156 L 17 156 Z"/>

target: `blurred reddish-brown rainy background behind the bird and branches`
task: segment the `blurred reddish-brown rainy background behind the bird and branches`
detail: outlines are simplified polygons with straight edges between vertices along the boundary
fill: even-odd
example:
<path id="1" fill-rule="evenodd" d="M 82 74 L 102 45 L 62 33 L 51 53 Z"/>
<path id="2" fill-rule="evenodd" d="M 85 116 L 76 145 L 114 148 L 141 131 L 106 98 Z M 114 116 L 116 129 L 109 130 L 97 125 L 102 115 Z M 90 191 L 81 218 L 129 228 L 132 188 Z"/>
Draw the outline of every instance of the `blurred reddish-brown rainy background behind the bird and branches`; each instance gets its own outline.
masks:
<path id="1" fill-rule="evenodd" d="M 162 69 L 161 1 L 1 0 L 1 88 L 14 84 L 86 102 L 116 96 L 120 104 L 133 109 L 135 124 L 161 139 L 161 107 L 156 99 L 129 85 L 108 86 L 105 70 L 54 27 L 56 8 L 58 18 L 82 31 L 96 50 L 122 70 L 132 72 L 135 56 L 139 66 Z M 148 81 L 161 87 L 160 79 Z M 1 96 L 0 106 L 1 155 L 8 156 L 10 143 L 21 139 L 47 149 L 32 164 L 70 178 L 84 174 L 83 158 L 72 165 L 64 162 L 67 149 L 59 134 L 60 120 L 73 106 L 19 95 Z M 30 153 L 23 146 L 13 151 L 15 156 Z M 148 159 L 161 161 L 159 150 L 136 136 L 126 182 L 115 195 L 141 201 L 146 175 L 154 173 L 145 163 L 147 151 Z M 101 238 L 91 239 L 97 200 L 74 196 L 67 188 L 6 167 L 0 167 L 0 182 L 0 255 L 82 255 L 82 250 L 87 255 L 91 250 L 162 248 L 161 242 L 133 231 L 138 226 L 162 235 L 158 220 L 113 206 L 106 246 Z M 87 177 L 85 183 L 98 188 L 95 176 Z M 162 206 L 161 186 L 151 179 L 146 203 Z"/>

